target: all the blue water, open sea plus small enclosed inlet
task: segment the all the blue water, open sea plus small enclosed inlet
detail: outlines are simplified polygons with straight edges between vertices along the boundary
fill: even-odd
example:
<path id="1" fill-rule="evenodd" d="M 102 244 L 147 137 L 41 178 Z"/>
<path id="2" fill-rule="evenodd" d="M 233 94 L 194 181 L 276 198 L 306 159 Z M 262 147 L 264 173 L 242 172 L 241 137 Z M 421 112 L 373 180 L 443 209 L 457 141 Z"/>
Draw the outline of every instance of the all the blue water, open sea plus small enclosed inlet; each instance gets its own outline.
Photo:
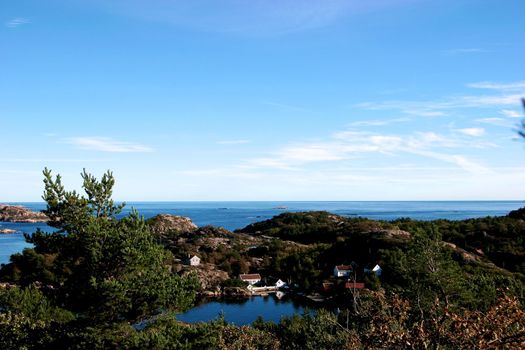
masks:
<path id="1" fill-rule="evenodd" d="M 45 208 L 44 203 L 9 203 L 23 205 L 34 211 Z M 228 230 L 270 219 L 283 212 L 326 210 L 346 217 L 366 217 L 377 220 L 412 218 L 416 220 L 449 219 L 462 220 L 485 216 L 501 216 L 525 206 L 522 201 L 427 201 L 427 202 L 130 202 L 121 216 L 132 208 L 145 218 L 157 214 L 189 217 L 199 226 L 215 225 Z M 30 245 L 24 241 L 24 233 L 37 229 L 52 232 L 46 224 L 0 222 L 0 229 L 16 230 L 15 234 L 0 235 L 0 263 L 9 262 L 11 254 Z M 254 296 L 241 300 L 211 300 L 196 305 L 177 315 L 188 322 L 206 322 L 220 315 L 226 322 L 239 326 L 249 325 L 258 316 L 266 321 L 279 322 L 283 316 L 302 314 L 309 306 L 294 298 L 277 298 L 276 295 Z M 315 309 L 315 307 L 314 307 Z"/>

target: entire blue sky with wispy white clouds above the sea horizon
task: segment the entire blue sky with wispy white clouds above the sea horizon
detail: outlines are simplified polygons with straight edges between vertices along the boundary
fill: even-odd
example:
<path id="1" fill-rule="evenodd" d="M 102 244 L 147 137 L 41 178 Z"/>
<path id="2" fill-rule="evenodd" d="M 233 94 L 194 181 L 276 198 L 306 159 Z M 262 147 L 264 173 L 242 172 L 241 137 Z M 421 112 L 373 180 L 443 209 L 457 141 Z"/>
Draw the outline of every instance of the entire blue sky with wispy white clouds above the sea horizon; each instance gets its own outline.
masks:
<path id="1" fill-rule="evenodd" d="M 524 199 L 523 0 L 5 0 L 0 202 Z"/>

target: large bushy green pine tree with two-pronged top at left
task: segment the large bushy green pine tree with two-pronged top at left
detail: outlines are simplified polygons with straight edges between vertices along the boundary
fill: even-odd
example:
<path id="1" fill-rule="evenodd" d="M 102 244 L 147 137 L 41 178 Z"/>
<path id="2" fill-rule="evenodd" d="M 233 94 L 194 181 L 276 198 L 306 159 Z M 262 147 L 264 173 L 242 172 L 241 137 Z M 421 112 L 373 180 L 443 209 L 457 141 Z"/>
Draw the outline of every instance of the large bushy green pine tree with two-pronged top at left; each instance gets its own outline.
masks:
<path id="1" fill-rule="evenodd" d="M 86 196 L 65 191 L 60 176 L 44 171 L 45 213 L 53 233 L 27 235 L 33 248 L 11 257 L 3 281 L 41 286 L 51 303 L 79 319 L 134 322 L 192 305 L 196 280 L 172 273 L 171 254 L 155 242 L 137 212 L 117 218 L 114 179 L 82 174 Z"/>

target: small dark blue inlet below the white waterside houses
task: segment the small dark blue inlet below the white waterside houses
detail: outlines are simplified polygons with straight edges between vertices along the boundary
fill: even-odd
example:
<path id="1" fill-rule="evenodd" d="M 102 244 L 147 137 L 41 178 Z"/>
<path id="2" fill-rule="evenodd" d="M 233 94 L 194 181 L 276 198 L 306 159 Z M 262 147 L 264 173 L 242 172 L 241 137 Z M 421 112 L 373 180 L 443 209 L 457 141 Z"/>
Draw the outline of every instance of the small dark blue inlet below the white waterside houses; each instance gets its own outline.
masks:
<path id="1" fill-rule="evenodd" d="M 228 323 L 242 326 L 253 323 L 257 316 L 277 323 L 282 316 L 302 315 L 304 311 L 304 307 L 296 301 L 286 297 L 279 300 L 274 295 L 269 295 L 235 301 L 212 301 L 177 315 L 177 319 L 188 323 L 206 322 L 216 319 L 222 313 Z"/>

